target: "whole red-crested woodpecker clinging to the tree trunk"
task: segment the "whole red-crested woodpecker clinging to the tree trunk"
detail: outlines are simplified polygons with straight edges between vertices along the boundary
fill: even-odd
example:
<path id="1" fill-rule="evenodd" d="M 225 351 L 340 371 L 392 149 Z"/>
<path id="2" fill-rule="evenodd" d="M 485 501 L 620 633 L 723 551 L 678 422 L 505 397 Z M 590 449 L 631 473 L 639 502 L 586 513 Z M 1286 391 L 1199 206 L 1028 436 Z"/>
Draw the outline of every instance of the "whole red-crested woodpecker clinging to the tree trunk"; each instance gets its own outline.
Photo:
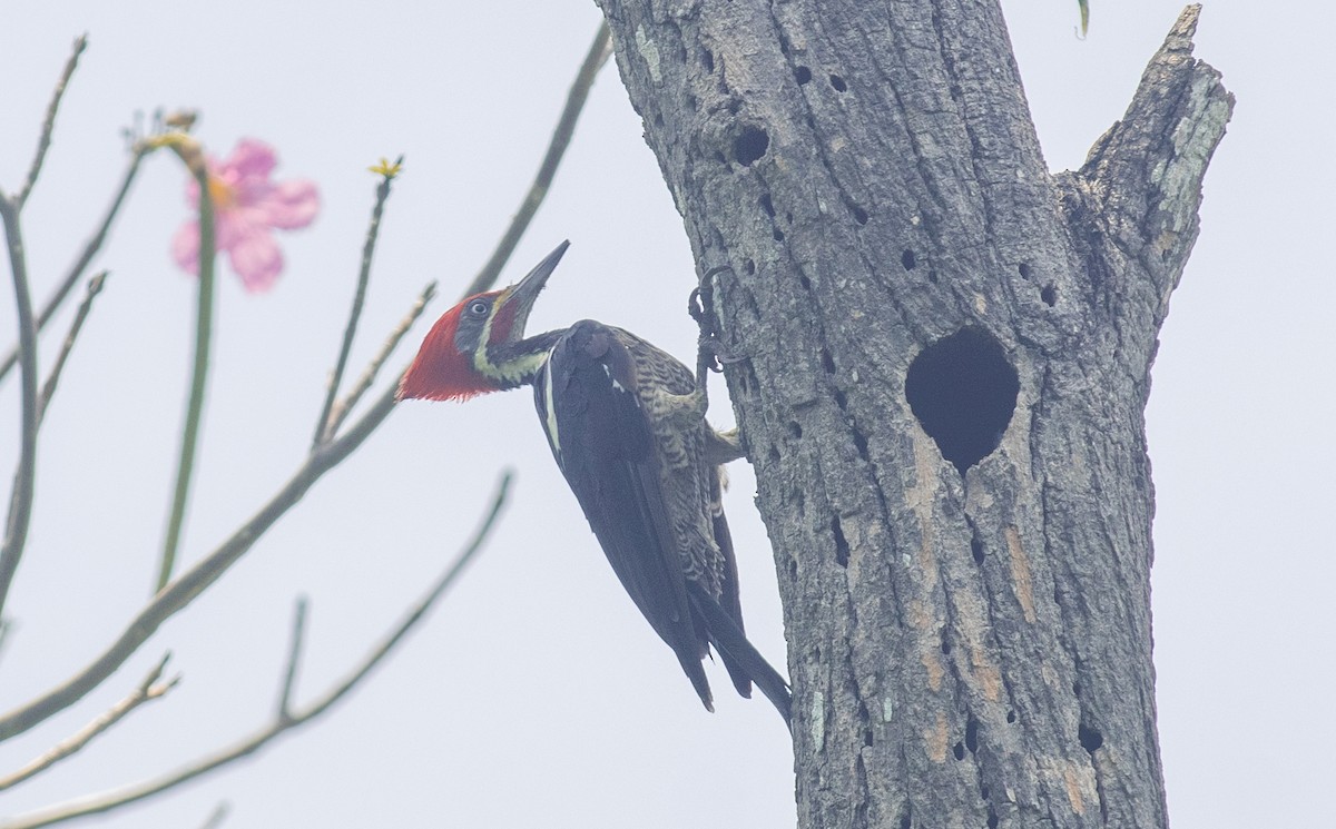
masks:
<path id="1" fill-rule="evenodd" d="M 469 296 L 422 342 L 398 398 L 468 400 L 532 386 L 552 454 L 608 563 L 713 712 L 713 646 L 743 697 L 752 682 L 790 720 L 788 683 L 743 631 L 737 562 L 720 501 L 736 430 L 705 422 L 696 374 L 635 334 L 595 320 L 525 338 L 562 242 L 518 283 Z M 712 355 L 709 355 L 712 359 Z"/>

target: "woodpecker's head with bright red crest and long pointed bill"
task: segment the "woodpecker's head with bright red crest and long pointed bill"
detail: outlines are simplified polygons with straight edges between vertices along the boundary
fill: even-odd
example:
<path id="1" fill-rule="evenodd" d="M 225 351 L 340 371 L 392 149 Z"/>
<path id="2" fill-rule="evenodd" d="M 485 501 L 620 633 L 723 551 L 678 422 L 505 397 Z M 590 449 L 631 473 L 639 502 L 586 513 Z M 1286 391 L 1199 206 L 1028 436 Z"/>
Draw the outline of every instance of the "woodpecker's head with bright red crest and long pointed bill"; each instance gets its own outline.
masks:
<path id="1" fill-rule="evenodd" d="M 399 380 L 395 396 L 468 400 L 524 382 L 532 374 L 534 355 L 505 346 L 524 339 L 533 300 L 568 246 L 562 242 L 518 283 L 469 296 L 442 314 Z"/>

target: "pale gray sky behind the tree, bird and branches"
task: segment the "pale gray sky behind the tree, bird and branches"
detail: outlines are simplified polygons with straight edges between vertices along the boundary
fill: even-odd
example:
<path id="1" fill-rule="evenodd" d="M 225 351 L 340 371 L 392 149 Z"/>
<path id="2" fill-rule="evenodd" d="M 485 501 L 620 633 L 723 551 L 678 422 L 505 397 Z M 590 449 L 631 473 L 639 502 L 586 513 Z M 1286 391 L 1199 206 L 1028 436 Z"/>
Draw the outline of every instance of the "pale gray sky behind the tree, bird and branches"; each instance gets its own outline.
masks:
<path id="1" fill-rule="evenodd" d="M 342 331 L 378 156 L 406 154 L 354 366 L 413 295 L 442 311 L 528 184 L 597 25 L 587 1 L 433 4 L 91 0 L 0 3 L 0 182 L 16 186 L 72 39 L 91 45 L 25 212 L 35 292 L 73 256 L 123 168 L 135 111 L 196 107 L 226 154 L 254 136 L 281 176 L 315 179 L 323 212 L 289 235 L 269 295 L 220 275 L 211 407 L 184 554 L 196 558 L 298 466 Z M 1053 168 L 1120 117 L 1181 4 L 1005 3 Z M 1160 734 L 1176 826 L 1329 821 L 1336 602 L 1323 515 L 1336 415 L 1336 219 L 1329 52 L 1336 12 L 1206 3 L 1197 55 L 1238 96 L 1206 176 L 1202 232 L 1165 326 L 1150 400 L 1158 495 L 1154 623 Z M 512 263 L 573 242 L 534 330 L 597 318 L 688 355 L 692 262 L 612 67 Z M 37 507 L 9 613 L 0 709 L 64 679 L 144 602 L 163 529 L 190 359 L 192 279 L 168 258 L 183 174 L 150 159 L 98 259 L 114 271 L 44 427 Z M 5 270 L 0 347 L 13 338 Z M 44 355 L 59 339 L 59 322 Z M 398 355 L 407 360 L 414 343 Z M 721 384 L 719 386 L 721 388 Z M 0 387 L 0 470 L 13 465 L 13 380 Z M 716 404 L 716 419 L 731 421 Z M 502 466 L 505 523 L 428 625 L 329 718 L 108 826 L 786 826 L 791 757 L 764 700 L 713 670 L 709 716 L 599 551 L 526 392 L 403 406 L 104 689 L 0 748 L 8 772 L 175 653 L 183 685 L 83 756 L 0 796 L 0 814 L 139 780 L 269 716 L 291 602 L 311 598 L 303 698 L 391 625 L 472 531 Z M 8 479 L 8 471 L 3 473 Z M 754 482 L 728 510 L 748 630 L 783 662 Z"/>

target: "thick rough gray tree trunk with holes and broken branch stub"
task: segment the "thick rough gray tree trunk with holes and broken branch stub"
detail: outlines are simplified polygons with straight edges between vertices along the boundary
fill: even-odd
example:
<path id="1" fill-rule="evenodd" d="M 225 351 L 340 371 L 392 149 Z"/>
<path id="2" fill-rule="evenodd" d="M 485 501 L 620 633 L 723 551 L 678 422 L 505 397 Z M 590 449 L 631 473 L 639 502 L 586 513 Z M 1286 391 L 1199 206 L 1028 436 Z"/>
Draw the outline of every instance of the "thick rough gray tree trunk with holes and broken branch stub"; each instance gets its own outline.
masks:
<path id="1" fill-rule="evenodd" d="M 1233 103 L 1200 7 L 1050 175 L 995 0 L 599 1 L 731 268 L 800 826 L 1164 826 L 1142 412 Z"/>

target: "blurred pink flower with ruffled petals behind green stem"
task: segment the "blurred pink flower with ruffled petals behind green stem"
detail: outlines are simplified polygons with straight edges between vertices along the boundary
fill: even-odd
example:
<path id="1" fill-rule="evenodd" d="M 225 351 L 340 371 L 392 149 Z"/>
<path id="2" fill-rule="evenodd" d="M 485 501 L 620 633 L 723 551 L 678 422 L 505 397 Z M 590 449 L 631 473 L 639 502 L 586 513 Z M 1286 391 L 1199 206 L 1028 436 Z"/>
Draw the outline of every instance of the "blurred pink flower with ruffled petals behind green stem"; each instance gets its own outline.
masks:
<path id="1" fill-rule="evenodd" d="M 247 291 L 267 291 L 283 270 L 273 230 L 306 227 L 321 208 L 314 182 L 271 182 L 278 158 L 274 148 L 255 139 L 242 139 L 224 162 L 208 159 L 208 195 L 214 202 L 214 235 L 218 252 L 242 278 Z M 199 184 L 190 179 L 186 200 L 198 208 Z M 199 272 L 199 220 L 187 222 L 171 242 L 171 255 L 182 270 Z"/>

